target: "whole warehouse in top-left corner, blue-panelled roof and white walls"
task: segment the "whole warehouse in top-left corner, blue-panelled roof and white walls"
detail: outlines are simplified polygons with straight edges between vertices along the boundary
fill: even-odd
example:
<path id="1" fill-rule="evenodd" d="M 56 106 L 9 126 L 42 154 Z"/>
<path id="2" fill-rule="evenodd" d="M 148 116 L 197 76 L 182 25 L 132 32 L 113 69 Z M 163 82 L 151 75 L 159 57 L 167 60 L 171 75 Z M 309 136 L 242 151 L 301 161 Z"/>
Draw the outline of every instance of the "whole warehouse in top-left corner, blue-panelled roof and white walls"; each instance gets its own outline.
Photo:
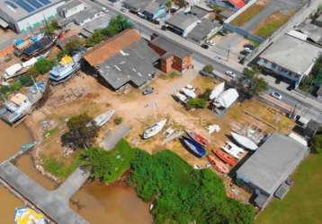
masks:
<path id="1" fill-rule="evenodd" d="M 57 15 L 65 0 L 0 0 L 0 26 L 17 32 L 37 28 Z"/>

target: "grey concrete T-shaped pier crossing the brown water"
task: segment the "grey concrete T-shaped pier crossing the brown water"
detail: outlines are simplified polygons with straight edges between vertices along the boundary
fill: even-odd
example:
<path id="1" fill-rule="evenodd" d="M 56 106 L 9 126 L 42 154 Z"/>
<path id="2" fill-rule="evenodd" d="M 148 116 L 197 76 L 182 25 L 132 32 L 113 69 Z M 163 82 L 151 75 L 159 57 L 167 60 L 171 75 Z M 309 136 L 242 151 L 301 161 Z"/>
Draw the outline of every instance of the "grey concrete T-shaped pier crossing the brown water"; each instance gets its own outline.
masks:
<path id="1" fill-rule="evenodd" d="M 82 168 L 67 178 L 67 181 L 55 191 L 47 191 L 30 177 L 27 177 L 11 162 L 5 161 L 0 165 L 0 180 L 10 185 L 13 190 L 34 204 L 50 219 L 59 224 L 87 223 L 75 211 L 69 208 L 70 197 L 85 183 L 89 172 Z"/>

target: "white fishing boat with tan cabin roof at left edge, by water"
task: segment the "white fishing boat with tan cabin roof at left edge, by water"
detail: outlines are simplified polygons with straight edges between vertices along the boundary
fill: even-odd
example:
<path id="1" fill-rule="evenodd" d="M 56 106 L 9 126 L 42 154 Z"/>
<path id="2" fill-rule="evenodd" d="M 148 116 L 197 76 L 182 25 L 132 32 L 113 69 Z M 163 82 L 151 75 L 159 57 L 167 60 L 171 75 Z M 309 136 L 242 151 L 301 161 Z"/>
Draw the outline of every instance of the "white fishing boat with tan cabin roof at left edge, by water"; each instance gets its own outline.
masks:
<path id="1" fill-rule="evenodd" d="M 0 108 L 1 119 L 11 125 L 21 120 L 35 108 L 37 102 L 42 99 L 46 88 L 45 82 L 35 82 L 25 94 L 17 93 L 11 99 L 4 100 L 4 104 Z"/>

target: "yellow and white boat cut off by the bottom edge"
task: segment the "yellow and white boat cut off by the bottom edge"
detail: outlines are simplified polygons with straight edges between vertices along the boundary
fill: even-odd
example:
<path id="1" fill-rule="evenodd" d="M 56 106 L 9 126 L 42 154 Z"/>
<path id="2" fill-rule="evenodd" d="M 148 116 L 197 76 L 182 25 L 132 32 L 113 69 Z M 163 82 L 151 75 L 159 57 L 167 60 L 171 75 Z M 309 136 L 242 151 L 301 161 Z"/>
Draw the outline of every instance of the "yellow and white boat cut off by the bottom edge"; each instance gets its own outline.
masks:
<path id="1" fill-rule="evenodd" d="M 40 212 L 29 207 L 20 207 L 14 210 L 15 224 L 47 224 L 45 217 Z"/>

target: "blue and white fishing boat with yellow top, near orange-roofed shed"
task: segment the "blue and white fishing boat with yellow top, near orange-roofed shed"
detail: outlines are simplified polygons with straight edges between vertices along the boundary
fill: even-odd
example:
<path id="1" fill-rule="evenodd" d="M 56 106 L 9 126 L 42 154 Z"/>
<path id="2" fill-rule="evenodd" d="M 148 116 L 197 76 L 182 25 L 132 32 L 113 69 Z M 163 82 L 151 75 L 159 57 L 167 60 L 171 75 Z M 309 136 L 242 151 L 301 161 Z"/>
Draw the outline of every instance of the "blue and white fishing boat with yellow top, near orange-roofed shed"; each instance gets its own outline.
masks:
<path id="1" fill-rule="evenodd" d="M 77 53 L 74 56 L 64 56 L 59 64 L 49 71 L 49 81 L 53 85 L 61 82 L 66 82 L 69 78 L 76 74 L 81 65 L 81 54 Z"/>

